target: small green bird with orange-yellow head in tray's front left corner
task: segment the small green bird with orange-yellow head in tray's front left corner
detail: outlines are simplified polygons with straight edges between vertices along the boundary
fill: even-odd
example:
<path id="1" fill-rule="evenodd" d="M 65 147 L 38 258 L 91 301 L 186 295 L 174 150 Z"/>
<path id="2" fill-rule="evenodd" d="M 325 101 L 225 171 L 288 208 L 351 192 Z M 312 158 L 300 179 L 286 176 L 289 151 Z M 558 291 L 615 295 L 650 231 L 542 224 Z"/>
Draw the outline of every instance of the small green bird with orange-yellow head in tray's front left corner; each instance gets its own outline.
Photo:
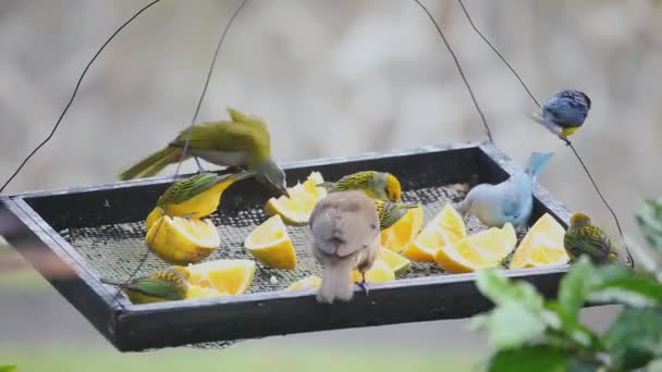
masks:
<path id="1" fill-rule="evenodd" d="M 107 280 L 101 282 L 121 287 L 133 303 L 149 303 L 186 298 L 188 275 L 186 268 L 171 266 L 149 276 L 134 278 L 126 284 Z"/>

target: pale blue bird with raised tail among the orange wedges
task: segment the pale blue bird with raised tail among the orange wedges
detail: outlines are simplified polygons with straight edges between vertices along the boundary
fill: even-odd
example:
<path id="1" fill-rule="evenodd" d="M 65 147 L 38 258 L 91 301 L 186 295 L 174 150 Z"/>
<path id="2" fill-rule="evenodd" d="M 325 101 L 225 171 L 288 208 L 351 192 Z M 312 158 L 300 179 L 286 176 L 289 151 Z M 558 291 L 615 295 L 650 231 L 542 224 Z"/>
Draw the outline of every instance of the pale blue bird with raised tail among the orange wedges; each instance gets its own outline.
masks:
<path id="1" fill-rule="evenodd" d="M 502 227 L 506 222 L 525 226 L 534 209 L 534 182 L 552 154 L 534 152 L 524 173 L 514 174 L 498 185 L 474 187 L 457 210 L 464 215 L 476 215 L 490 227 Z"/>

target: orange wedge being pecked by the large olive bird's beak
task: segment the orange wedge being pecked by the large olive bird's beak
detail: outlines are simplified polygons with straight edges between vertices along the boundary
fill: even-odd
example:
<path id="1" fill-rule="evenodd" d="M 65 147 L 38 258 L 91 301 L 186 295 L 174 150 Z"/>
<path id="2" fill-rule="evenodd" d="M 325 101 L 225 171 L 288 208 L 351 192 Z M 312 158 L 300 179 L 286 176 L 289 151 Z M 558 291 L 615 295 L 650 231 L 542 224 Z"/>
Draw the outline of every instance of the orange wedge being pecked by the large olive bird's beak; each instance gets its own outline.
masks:
<path id="1" fill-rule="evenodd" d="M 321 174 L 311 173 L 304 184 L 297 183 L 287 188 L 290 197 L 281 196 L 278 199 L 271 198 L 265 206 L 265 211 L 269 215 L 280 214 L 283 220 L 293 225 L 305 225 L 310 219 L 310 213 L 319 199 L 327 195 L 318 183 L 323 182 Z"/>

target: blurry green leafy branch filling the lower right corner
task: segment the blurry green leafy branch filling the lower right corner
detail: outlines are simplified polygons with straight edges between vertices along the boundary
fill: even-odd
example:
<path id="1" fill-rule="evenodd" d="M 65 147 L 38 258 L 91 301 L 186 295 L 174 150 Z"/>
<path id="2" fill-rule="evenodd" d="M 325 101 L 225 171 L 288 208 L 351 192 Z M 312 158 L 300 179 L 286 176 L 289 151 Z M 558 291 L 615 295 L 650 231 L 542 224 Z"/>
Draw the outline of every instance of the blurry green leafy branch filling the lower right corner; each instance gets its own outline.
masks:
<path id="1" fill-rule="evenodd" d="M 654 257 L 635 272 L 596 265 L 581 257 L 561 280 L 557 298 L 545 300 L 534 285 L 511 281 L 497 269 L 478 273 L 480 292 L 494 302 L 474 317 L 495 347 L 489 371 L 632 371 L 662 358 L 662 199 L 647 199 L 636 215 Z M 628 244 L 638 256 L 646 253 Z M 581 323 L 586 302 L 621 303 L 606 332 Z"/>

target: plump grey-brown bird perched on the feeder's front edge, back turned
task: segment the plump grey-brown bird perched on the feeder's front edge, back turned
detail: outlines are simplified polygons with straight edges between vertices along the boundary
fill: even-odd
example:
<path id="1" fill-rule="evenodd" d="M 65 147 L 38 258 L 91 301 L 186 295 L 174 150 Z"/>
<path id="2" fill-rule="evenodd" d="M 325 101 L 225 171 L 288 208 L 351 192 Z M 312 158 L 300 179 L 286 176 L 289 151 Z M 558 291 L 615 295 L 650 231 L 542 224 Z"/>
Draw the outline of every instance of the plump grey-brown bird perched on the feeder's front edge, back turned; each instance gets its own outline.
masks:
<path id="1" fill-rule="evenodd" d="M 319 302 L 348 301 L 353 289 L 351 272 L 358 269 L 361 287 L 368 293 L 366 272 L 375 263 L 381 245 L 375 201 L 361 191 L 331 193 L 310 215 L 312 253 L 322 265 Z"/>

